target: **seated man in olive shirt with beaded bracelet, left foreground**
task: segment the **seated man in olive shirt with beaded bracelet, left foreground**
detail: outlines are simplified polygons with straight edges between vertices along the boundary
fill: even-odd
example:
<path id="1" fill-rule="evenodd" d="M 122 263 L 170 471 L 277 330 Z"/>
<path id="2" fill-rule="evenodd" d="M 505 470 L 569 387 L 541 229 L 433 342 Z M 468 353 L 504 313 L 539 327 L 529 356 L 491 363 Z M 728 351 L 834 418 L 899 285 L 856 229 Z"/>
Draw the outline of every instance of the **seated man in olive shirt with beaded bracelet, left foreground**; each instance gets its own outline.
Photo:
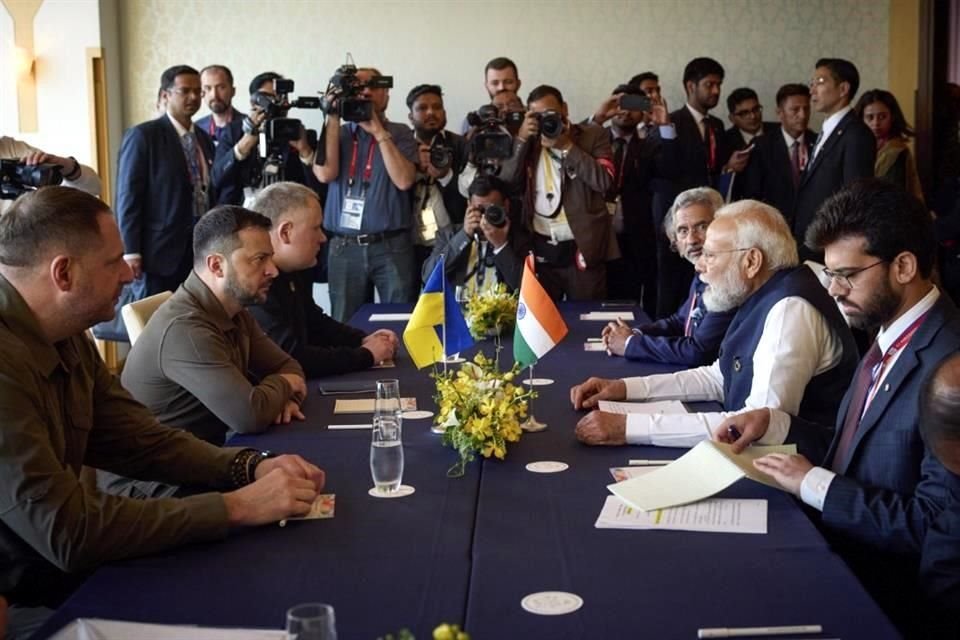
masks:
<path id="1" fill-rule="evenodd" d="M 84 331 L 132 279 L 113 216 L 47 187 L 0 216 L 0 593 L 9 637 L 97 565 L 222 538 L 309 511 L 323 471 L 299 456 L 221 449 L 158 422 Z M 226 493 L 130 500 L 81 484 L 81 465 Z"/>

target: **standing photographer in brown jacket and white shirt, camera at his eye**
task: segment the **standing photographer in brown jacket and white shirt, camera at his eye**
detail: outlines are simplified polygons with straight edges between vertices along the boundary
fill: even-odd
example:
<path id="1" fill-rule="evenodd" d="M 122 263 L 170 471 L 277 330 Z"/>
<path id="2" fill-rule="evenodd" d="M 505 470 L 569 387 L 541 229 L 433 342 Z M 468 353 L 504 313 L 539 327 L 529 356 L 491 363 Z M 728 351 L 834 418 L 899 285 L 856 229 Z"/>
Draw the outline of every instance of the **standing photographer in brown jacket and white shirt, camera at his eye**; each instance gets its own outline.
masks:
<path id="1" fill-rule="evenodd" d="M 604 197 L 614 177 L 610 137 L 572 124 L 555 87 L 531 91 L 527 109 L 502 176 L 523 190 L 537 271 L 555 300 L 603 300 L 606 263 L 620 255 Z"/>

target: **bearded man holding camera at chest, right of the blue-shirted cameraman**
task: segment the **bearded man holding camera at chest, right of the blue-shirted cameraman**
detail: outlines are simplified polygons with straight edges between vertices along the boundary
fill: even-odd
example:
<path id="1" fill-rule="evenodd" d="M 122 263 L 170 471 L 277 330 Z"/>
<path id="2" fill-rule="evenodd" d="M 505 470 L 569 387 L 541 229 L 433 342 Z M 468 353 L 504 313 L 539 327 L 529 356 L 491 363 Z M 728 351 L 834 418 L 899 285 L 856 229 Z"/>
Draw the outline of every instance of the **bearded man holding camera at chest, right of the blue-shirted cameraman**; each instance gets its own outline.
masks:
<path id="1" fill-rule="evenodd" d="M 443 91 L 421 84 L 407 94 L 410 124 L 417 139 L 419 162 L 413 196 L 414 252 L 417 272 L 430 255 L 440 229 L 463 222 L 466 199 L 457 189 L 464 164 L 463 138 L 450 131 L 443 108 Z"/>

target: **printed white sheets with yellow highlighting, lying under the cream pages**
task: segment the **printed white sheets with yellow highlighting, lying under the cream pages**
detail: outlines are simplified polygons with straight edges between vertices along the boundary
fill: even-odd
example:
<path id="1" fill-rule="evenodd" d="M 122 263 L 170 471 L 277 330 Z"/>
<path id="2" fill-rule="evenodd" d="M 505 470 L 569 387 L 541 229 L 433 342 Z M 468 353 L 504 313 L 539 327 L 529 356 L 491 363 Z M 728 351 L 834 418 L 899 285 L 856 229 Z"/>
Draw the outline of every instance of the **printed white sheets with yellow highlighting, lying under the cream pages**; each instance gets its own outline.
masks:
<path id="1" fill-rule="evenodd" d="M 670 509 L 632 509 L 607 496 L 594 526 L 598 529 L 666 529 L 711 533 L 766 533 L 766 500 L 704 500 Z"/>

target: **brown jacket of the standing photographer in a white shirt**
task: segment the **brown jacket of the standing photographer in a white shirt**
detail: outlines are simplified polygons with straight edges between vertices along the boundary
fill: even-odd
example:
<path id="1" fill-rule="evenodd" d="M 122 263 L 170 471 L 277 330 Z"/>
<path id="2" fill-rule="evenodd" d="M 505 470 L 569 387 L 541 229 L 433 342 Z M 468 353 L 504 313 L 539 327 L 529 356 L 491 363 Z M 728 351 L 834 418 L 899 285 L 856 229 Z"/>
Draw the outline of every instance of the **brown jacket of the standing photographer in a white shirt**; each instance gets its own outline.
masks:
<path id="1" fill-rule="evenodd" d="M 604 194 L 613 184 L 610 136 L 596 125 L 571 125 L 573 147 L 563 161 L 563 207 L 577 248 L 588 266 L 620 256 Z M 540 138 L 514 140 L 513 156 L 503 162 L 500 177 L 523 192 L 523 225 L 533 232 L 536 171 Z"/>

